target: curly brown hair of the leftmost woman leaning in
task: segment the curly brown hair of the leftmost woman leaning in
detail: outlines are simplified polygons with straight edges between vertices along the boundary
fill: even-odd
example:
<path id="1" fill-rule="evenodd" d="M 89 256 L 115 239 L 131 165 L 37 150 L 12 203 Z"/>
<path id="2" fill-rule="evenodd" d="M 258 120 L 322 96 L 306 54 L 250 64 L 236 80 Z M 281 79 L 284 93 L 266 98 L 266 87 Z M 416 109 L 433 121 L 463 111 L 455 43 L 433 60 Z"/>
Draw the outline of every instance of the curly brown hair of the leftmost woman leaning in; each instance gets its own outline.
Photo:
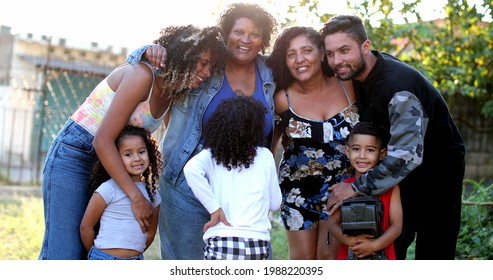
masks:
<path id="1" fill-rule="evenodd" d="M 227 52 L 218 27 L 170 26 L 160 35 L 154 43 L 167 51 L 166 66 L 160 72 L 164 77 L 163 93 L 170 92 L 175 99 L 183 97 L 191 89 L 190 77 L 195 75 L 197 62 L 206 51 L 211 51 L 211 76 L 223 72 Z"/>

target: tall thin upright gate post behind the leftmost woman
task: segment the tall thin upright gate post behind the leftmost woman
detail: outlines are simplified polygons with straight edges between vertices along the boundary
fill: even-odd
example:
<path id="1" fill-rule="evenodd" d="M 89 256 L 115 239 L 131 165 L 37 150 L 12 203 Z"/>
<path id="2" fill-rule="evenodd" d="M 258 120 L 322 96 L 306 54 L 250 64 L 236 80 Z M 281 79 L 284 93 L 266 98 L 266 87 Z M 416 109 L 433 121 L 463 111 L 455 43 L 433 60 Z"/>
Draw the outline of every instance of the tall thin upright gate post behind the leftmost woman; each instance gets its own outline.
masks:
<path id="1" fill-rule="evenodd" d="M 48 85 L 47 85 L 47 76 L 48 76 L 48 68 L 51 60 L 51 36 L 48 37 L 48 49 L 46 54 L 46 60 L 43 65 L 43 76 L 41 79 L 41 110 L 39 112 L 39 134 L 38 134 L 38 156 L 36 160 L 36 180 L 41 182 L 41 156 L 43 154 L 42 145 L 43 145 L 43 127 L 44 127 L 44 119 L 45 119 L 45 111 L 46 105 L 48 103 Z"/>

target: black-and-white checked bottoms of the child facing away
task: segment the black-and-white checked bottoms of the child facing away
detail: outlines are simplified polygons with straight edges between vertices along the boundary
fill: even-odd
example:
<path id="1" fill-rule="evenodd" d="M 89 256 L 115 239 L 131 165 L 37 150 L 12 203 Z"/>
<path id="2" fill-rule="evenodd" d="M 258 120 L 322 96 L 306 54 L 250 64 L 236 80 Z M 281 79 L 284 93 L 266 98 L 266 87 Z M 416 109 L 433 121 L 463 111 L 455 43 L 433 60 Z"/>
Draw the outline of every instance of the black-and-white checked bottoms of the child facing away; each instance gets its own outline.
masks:
<path id="1" fill-rule="evenodd" d="M 204 248 L 206 260 L 266 260 L 269 241 L 241 237 L 211 237 Z"/>

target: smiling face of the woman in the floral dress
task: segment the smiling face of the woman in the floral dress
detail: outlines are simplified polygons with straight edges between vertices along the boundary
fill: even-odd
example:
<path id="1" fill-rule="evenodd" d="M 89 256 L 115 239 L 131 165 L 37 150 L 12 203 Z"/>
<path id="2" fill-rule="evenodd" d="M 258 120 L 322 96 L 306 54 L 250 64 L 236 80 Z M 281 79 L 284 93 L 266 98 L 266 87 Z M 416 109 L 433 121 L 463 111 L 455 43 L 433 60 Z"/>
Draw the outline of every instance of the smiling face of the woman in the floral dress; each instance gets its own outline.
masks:
<path id="1" fill-rule="evenodd" d="M 286 50 L 286 65 L 298 81 L 322 74 L 323 53 L 305 35 L 293 38 Z"/>

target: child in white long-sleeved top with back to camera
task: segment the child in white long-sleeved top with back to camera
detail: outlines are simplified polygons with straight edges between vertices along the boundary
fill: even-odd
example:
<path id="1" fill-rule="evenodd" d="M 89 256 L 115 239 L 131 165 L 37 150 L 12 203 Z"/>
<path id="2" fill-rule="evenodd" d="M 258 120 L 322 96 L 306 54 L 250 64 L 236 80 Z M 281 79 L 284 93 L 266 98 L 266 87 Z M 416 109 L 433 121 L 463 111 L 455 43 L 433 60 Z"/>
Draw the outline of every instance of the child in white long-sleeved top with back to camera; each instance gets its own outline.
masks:
<path id="1" fill-rule="evenodd" d="M 184 167 L 211 214 L 204 225 L 206 260 L 265 260 L 269 211 L 281 204 L 274 157 L 263 147 L 267 110 L 250 97 L 221 101 L 204 128 L 204 149 Z"/>

